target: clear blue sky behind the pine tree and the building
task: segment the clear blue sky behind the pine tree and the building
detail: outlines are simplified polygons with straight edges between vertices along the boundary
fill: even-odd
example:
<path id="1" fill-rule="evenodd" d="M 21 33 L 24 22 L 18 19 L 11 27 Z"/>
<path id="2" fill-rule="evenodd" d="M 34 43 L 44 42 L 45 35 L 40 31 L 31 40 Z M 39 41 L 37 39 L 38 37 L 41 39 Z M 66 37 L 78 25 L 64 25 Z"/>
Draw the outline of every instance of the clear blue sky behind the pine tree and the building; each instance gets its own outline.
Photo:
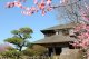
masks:
<path id="1" fill-rule="evenodd" d="M 8 1 L 11 0 L 0 0 L 0 43 L 4 39 L 12 37 L 11 31 L 14 29 L 23 27 L 31 28 L 33 33 L 29 41 L 36 41 L 43 38 L 43 33 L 40 30 L 63 23 L 63 21 L 57 20 L 56 11 L 48 12 L 46 16 L 41 16 L 40 12 L 32 16 L 23 16 L 19 8 L 4 8 Z M 32 4 L 32 2 L 29 1 L 27 4 Z"/>

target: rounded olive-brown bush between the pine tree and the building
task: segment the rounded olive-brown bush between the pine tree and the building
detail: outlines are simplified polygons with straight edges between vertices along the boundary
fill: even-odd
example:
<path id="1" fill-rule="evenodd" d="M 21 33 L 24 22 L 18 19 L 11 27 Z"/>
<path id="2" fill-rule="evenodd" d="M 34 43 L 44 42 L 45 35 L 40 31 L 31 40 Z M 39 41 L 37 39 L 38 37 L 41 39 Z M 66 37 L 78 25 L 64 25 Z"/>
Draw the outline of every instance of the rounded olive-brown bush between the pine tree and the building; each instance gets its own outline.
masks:
<path id="1" fill-rule="evenodd" d="M 41 56 L 47 52 L 47 49 L 42 46 L 34 45 L 30 48 L 27 48 L 23 53 L 27 56 Z"/>

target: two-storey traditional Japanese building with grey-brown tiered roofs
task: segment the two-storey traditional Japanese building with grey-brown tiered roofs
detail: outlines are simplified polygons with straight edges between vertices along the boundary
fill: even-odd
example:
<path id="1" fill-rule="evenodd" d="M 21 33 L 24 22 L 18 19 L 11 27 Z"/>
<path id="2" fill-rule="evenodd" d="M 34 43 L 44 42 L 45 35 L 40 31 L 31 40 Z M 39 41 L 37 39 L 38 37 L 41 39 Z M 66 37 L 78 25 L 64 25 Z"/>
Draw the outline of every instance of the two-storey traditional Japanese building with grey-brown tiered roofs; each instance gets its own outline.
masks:
<path id="1" fill-rule="evenodd" d="M 49 56 L 60 55 L 65 49 L 73 49 L 70 42 L 76 40 L 76 38 L 72 38 L 76 26 L 76 23 L 68 23 L 43 29 L 41 32 L 44 35 L 44 38 L 34 43 L 48 48 Z"/>

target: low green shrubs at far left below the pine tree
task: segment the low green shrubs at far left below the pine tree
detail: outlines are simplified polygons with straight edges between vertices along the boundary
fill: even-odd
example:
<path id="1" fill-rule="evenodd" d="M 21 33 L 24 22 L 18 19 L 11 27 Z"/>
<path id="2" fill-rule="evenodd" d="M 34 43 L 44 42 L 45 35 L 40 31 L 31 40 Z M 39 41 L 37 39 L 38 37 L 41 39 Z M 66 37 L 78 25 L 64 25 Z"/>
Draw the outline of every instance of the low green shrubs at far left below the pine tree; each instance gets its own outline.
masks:
<path id="1" fill-rule="evenodd" d="M 17 59 L 20 58 L 20 56 L 22 56 L 22 52 L 17 51 L 17 49 L 12 47 L 7 47 L 6 49 L 7 49 L 6 51 L 0 52 L 0 56 L 11 58 L 11 59 Z"/>

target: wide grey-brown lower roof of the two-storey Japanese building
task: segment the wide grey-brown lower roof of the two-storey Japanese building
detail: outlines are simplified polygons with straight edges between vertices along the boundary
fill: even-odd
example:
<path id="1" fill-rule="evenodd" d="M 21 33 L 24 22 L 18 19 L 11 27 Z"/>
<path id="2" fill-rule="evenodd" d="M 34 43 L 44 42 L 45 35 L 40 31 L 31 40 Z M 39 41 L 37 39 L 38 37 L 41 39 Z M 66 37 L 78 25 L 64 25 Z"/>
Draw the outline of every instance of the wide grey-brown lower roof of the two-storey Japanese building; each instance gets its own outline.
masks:
<path id="1" fill-rule="evenodd" d="M 55 35 L 50 37 L 46 37 L 41 40 L 34 41 L 33 43 L 55 43 L 55 42 L 67 42 L 67 41 L 75 41 L 75 38 L 70 38 L 69 36 L 63 35 Z"/>

